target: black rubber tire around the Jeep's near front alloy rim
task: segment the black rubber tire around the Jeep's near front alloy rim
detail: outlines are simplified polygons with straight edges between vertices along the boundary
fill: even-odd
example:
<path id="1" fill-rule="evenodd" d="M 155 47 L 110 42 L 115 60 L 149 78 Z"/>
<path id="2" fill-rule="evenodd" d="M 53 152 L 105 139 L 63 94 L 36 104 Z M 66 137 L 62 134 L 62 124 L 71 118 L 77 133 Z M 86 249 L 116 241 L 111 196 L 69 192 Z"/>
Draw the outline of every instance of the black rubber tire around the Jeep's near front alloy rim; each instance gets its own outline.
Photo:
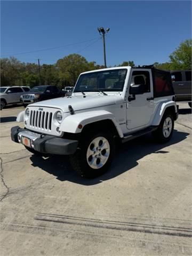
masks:
<path id="1" fill-rule="evenodd" d="M 109 156 L 107 156 L 108 158 L 106 158 L 107 161 L 103 164 L 103 166 L 99 167 L 99 169 L 93 169 L 89 165 L 88 160 L 87 160 L 87 150 L 89 149 L 89 146 L 91 148 L 91 142 L 94 139 L 97 140 L 99 137 L 102 137 L 103 139 L 107 140 L 107 142 L 108 142 L 107 145 L 109 145 L 110 151 L 109 151 Z M 103 143 L 103 145 L 104 145 L 104 143 Z M 94 145 L 94 147 L 97 147 L 97 145 Z M 78 174 L 80 174 L 81 176 L 86 177 L 86 178 L 99 177 L 100 175 L 102 175 L 103 173 L 105 173 L 108 170 L 111 162 L 113 161 L 113 157 L 115 154 L 115 142 L 114 142 L 113 134 L 111 132 L 95 132 L 95 133 L 93 132 L 92 134 L 85 134 L 82 136 L 81 141 L 79 141 L 78 148 L 79 149 L 77 149 L 76 153 L 74 155 L 70 156 L 70 163 L 71 163 L 71 166 L 73 167 L 73 169 Z M 97 150 L 98 150 L 98 153 L 101 153 L 101 154 L 103 154 L 103 152 L 105 152 L 105 151 L 103 151 L 105 149 L 103 149 L 102 152 L 101 151 L 99 152 L 99 150 L 101 150 L 101 149 L 99 149 L 99 145 L 98 145 Z M 97 152 L 95 154 L 97 154 Z M 105 154 L 107 155 L 107 151 Z M 98 155 L 96 157 L 99 158 Z M 94 159 L 97 159 L 96 157 L 94 157 Z M 97 159 L 97 161 L 99 162 L 100 158 L 99 158 L 99 160 Z M 96 164 L 95 166 L 98 167 L 99 165 L 98 165 L 97 161 L 95 162 L 95 164 Z"/>

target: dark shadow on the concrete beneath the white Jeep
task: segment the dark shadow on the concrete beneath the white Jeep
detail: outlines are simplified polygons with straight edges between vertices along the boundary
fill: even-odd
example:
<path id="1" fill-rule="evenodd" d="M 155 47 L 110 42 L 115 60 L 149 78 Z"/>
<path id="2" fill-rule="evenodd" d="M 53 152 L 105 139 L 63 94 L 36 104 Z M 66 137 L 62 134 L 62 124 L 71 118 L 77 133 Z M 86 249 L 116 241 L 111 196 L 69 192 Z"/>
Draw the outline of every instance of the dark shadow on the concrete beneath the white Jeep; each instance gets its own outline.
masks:
<path id="1" fill-rule="evenodd" d="M 143 135 L 142 137 L 132 140 L 122 145 L 116 152 L 113 164 L 107 173 L 95 179 L 85 179 L 80 177 L 70 166 L 68 156 L 52 156 L 52 157 L 30 157 L 31 165 L 38 166 L 42 170 L 54 175 L 60 181 L 70 181 L 84 186 L 96 185 L 105 180 L 113 179 L 118 175 L 131 170 L 138 165 L 138 161 L 150 154 L 169 154 L 169 151 L 163 148 L 179 143 L 185 140 L 189 133 L 174 130 L 171 141 L 160 144 L 156 143 L 151 135 Z"/>

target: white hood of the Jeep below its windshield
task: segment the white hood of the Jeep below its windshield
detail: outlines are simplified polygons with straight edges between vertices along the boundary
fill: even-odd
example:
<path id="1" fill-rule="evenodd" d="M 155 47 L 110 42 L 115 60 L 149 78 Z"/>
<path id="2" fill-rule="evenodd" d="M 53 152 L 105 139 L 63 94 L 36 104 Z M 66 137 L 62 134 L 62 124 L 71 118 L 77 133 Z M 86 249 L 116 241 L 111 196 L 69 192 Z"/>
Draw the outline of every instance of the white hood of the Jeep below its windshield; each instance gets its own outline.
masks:
<path id="1" fill-rule="evenodd" d="M 117 101 L 123 101 L 121 97 L 117 95 L 73 95 L 71 97 L 56 98 L 51 100 L 39 101 L 30 104 L 29 107 L 51 107 L 60 108 L 64 113 L 69 112 L 68 106 L 71 105 L 74 111 L 98 108 L 108 105 L 114 105 Z"/>

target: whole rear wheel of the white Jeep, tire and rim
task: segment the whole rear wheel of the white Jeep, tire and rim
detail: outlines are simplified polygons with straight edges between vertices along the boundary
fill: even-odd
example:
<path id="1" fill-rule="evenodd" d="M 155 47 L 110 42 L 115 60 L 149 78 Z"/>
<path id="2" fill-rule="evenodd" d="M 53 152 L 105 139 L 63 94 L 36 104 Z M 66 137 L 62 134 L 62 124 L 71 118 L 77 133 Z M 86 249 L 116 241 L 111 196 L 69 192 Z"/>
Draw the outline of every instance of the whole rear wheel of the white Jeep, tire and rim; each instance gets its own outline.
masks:
<path id="1" fill-rule="evenodd" d="M 171 139 L 174 129 L 174 119 L 171 113 L 165 113 L 158 129 L 153 132 L 159 142 L 167 142 Z"/>

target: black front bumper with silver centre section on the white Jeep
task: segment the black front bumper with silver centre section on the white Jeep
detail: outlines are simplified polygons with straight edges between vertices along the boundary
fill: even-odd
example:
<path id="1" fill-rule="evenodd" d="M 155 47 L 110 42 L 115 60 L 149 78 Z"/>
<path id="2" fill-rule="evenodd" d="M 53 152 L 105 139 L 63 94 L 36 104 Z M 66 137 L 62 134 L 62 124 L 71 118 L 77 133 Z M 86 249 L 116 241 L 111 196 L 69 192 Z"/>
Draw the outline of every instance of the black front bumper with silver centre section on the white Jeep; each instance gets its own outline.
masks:
<path id="1" fill-rule="evenodd" d="M 21 138 L 20 141 L 18 140 L 18 137 Z M 30 148 L 45 154 L 73 155 L 77 150 L 78 145 L 77 140 L 68 140 L 50 135 L 39 134 L 31 132 L 27 129 L 22 129 L 19 126 L 14 126 L 11 128 L 12 141 L 22 143 L 22 137 L 30 140 Z"/>

